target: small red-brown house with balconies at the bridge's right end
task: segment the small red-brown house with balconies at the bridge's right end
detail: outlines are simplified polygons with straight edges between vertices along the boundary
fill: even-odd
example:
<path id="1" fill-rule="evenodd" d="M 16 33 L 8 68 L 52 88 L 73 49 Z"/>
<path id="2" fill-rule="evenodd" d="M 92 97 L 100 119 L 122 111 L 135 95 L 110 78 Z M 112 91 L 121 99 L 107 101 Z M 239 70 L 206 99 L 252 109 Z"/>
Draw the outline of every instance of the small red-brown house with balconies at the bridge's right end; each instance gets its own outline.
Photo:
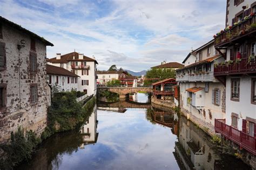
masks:
<path id="1" fill-rule="evenodd" d="M 176 84 L 176 80 L 173 78 L 168 78 L 153 83 L 152 88 L 154 97 L 157 99 L 173 99 L 173 86 Z"/>

